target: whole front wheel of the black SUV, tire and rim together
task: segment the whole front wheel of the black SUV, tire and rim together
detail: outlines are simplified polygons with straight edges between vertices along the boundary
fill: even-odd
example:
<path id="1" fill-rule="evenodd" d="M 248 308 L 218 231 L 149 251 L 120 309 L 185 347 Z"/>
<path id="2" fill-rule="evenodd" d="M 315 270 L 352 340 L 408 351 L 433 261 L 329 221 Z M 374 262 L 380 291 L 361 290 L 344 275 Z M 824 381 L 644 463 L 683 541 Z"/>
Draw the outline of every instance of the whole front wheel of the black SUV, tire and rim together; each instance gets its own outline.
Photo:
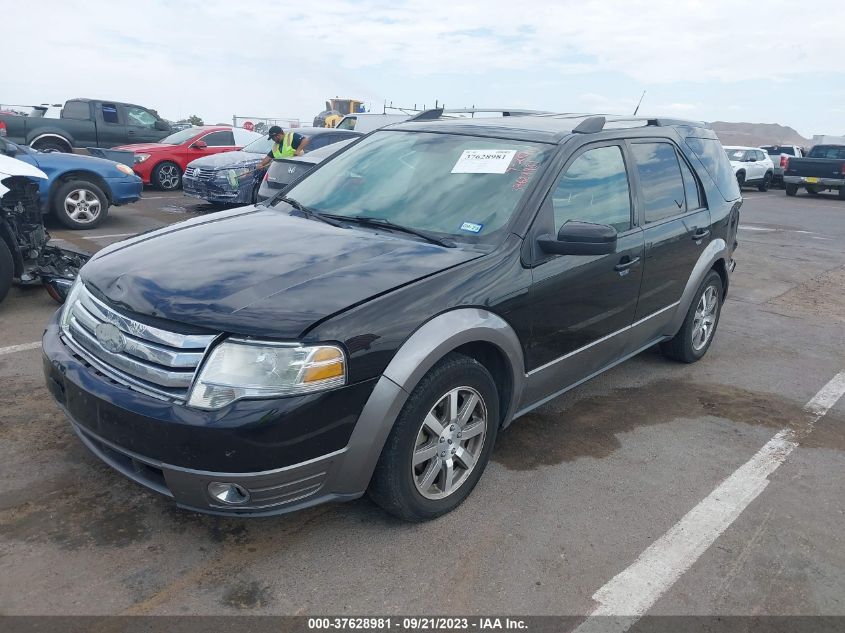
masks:
<path id="1" fill-rule="evenodd" d="M 454 421 L 449 413 L 453 393 L 459 413 L 472 406 L 463 425 L 448 423 Z M 441 426 L 443 421 L 447 423 Z M 437 426 L 430 426 L 432 422 Z M 499 398 L 490 372 L 475 359 L 449 354 L 423 377 L 402 408 L 373 473 L 370 498 L 406 521 L 426 521 L 454 510 L 484 472 L 498 428 Z M 420 454 L 416 465 L 415 453 Z M 470 468 L 464 459 L 472 460 Z M 451 490 L 449 468 L 458 478 Z"/>

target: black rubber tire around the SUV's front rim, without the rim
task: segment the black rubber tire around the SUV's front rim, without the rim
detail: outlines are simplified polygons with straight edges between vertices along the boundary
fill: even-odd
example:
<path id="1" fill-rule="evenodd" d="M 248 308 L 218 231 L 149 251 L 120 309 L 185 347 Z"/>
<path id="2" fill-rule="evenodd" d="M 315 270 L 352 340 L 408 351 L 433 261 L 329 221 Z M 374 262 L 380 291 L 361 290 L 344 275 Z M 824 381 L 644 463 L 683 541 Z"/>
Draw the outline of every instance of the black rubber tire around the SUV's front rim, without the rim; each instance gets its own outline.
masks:
<path id="1" fill-rule="evenodd" d="M 462 475 L 462 482 L 457 484 L 451 494 L 438 499 L 428 498 L 423 496 L 418 489 L 416 477 L 423 477 L 424 472 L 431 467 L 438 473 L 432 485 L 442 486 L 442 483 L 438 484 L 438 482 L 445 479 L 445 472 L 437 464 L 450 461 L 453 465 L 460 466 L 461 462 L 459 458 L 452 457 L 446 457 L 443 460 L 438 457 L 435 450 L 435 455 L 431 460 L 435 460 L 436 463 L 429 460 L 421 462 L 418 467 L 423 468 L 423 472 L 416 474 L 413 465 L 414 452 L 418 449 L 417 442 L 424 432 L 423 421 L 429 412 L 445 397 L 445 394 L 459 387 L 469 388 L 477 394 L 481 405 L 479 410 L 486 411 L 485 434 L 481 438 L 480 447 L 476 446 L 478 452 L 474 466 L 466 469 L 466 474 Z M 466 402 L 467 400 L 463 401 L 464 404 Z M 449 431 L 456 428 L 459 431 L 460 425 L 444 424 L 443 433 L 456 433 L 455 430 Z M 370 497 L 384 510 L 406 521 L 427 521 L 454 510 L 469 496 L 484 472 L 496 442 L 498 428 L 499 398 L 496 383 L 490 372 L 475 359 L 462 354 L 449 354 L 423 377 L 402 408 L 384 444 L 370 481 L 368 490 Z M 439 443 L 434 444 L 434 438 L 435 436 L 431 434 L 427 440 L 432 447 L 440 446 L 442 443 L 444 449 L 447 449 L 440 455 L 444 453 L 448 455 L 449 450 L 454 454 L 455 446 L 460 449 L 461 443 L 472 442 L 472 440 L 455 439 L 455 444 L 452 444 L 451 441 L 444 442 L 441 436 Z M 449 449 L 450 444 L 451 449 Z M 441 474 L 443 479 L 441 479 Z"/>

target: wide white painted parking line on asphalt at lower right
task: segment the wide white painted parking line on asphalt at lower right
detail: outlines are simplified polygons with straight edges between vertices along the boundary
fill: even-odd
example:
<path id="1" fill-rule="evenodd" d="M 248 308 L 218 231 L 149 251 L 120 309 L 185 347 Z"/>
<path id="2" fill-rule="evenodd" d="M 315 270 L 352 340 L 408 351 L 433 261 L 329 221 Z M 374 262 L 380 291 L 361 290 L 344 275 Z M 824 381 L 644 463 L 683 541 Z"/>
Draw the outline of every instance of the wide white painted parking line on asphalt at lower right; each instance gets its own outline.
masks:
<path id="1" fill-rule="evenodd" d="M 622 633 L 633 626 L 763 492 L 769 485 L 769 475 L 786 461 L 798 440 L 813 430 L 843 394 L 845 371 L 834 376 L 804 405 L 804 410 L 813 416 L 806 426 L 779 431 L 640 554 L 634 564 L 594 593 L 593 600 L 599 606 L 575 633 Z"/>

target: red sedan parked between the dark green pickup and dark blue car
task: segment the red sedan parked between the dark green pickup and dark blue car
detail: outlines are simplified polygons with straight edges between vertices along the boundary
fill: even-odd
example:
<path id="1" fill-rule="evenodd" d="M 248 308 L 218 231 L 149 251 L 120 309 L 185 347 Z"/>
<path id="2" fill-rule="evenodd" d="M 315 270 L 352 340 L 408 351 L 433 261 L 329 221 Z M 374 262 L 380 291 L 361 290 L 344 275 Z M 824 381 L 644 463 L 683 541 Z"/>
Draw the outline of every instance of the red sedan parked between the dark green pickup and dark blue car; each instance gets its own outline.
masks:
<path id="1" fill-rule="evenodd" d="M 112 149 L 134 152 L 133 169 L 144 184 L 169 191 L 182 186 L 182 172 L 192 160 L 241 149 L 261 136 L 236 127 L 203 125 L 175 132 L 157 143 L 135 143 Z"/>

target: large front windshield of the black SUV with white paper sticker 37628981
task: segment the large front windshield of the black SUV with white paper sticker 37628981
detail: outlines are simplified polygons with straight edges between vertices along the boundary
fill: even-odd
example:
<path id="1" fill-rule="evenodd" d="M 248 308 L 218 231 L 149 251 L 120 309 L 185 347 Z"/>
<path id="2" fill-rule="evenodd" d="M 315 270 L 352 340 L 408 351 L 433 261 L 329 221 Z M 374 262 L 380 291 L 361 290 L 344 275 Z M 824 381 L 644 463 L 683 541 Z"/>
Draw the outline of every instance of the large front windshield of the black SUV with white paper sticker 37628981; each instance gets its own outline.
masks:
<path id="1" fill-rule="evenodd" d="M 390 220 L 491 242 L 554 146 L 452 134 L 376 132 L 287 192 L 314 211 Z"/>

